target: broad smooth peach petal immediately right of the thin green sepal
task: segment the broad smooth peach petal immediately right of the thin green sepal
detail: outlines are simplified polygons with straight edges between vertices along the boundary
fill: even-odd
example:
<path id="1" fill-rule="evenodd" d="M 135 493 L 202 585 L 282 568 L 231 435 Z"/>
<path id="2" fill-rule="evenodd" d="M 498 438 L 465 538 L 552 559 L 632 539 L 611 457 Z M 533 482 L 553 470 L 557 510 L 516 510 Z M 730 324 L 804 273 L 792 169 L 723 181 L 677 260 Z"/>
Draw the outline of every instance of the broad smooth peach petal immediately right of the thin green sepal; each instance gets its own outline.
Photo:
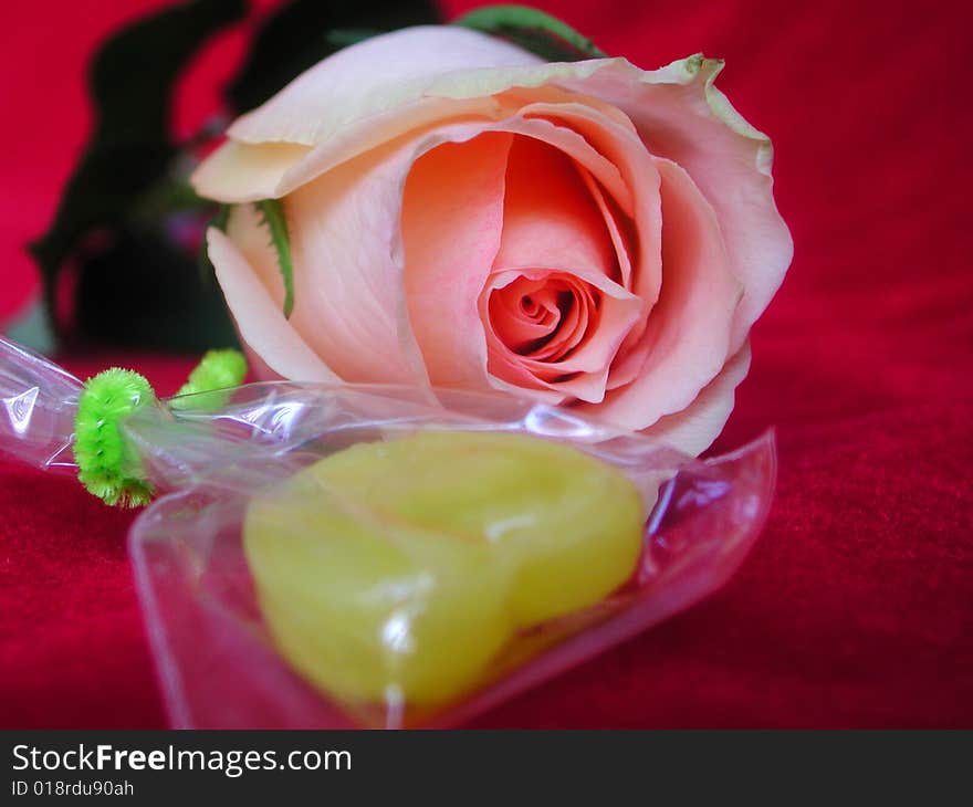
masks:
<path id="1" fill-rule="evenodd" d="M 406 310 L 400 214 L 409 168 L 433 145 L 374 149 L 284 200 L 291 323 L 346 381 L 428 386 Z"/>

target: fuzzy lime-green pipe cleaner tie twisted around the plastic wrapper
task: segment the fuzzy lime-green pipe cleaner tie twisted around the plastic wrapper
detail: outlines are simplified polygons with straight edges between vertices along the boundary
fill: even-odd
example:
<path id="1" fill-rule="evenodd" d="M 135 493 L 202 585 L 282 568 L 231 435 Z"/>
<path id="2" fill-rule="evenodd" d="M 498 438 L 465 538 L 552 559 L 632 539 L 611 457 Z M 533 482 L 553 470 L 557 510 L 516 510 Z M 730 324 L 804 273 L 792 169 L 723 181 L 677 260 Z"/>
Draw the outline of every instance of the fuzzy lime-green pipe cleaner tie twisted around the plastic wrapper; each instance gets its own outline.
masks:
<path id="1" fill-rule="evenodd" d="M 239 352 L 210 350 L 177 396 L 236 387 L 245 375 L 247 360 Z M 138 463 L 118 427 L 136 409 L 157 400 L 144 376 L 118 367 L 98 373 L 84 384 L 74 419 L 74 461 L 77 479 L 106 504 L 139 507 L 151 500 L 153 488 L 135 475 Z M 175 401 L 174 408 L 178 408 Z"/>

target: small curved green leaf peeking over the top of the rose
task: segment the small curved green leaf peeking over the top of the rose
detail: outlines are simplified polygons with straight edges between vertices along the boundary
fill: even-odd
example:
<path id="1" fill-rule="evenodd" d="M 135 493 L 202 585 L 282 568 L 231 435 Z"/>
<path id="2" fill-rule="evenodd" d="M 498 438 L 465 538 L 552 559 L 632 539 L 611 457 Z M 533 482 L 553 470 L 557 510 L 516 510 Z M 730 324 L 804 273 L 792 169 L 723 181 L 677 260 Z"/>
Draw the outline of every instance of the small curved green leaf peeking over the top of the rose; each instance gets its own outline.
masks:
<path id="1" fill-rule="evenodd" d="M 548 62 L 608 55 L 566 22 L 527 6 L 484 6 L 453 20 L 453 24 L 510 40 Z"/>

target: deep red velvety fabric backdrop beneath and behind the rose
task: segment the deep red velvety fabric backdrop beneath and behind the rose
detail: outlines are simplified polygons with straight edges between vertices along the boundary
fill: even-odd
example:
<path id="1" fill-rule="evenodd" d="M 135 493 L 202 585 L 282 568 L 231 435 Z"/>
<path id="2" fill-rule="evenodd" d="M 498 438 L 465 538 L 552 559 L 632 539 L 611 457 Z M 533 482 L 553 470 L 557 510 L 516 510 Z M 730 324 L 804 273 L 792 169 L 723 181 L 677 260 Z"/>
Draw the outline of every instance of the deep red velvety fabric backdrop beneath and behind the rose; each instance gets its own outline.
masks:
<path id="1" fill-rule="evenodd" d="M 20 244 L 83 138 L 85 55 L 158 4 L 0 11 L 0 312 L 30 285 Z M 721 87 L 774 137 L 796 259 L 718 448 L 776 425 L 780 489 L 722 593 L 474 725 L 973 726 L 973 15 L 918 0 L 542 6 L 645 66 L 724 56 Z M 212 75 L 240 41 L 207 56 Z M 161 391 L 190 366 L 69 367 L 109 363 Z M 0 724 L 164 724 L 130 520 L 71 480 L 0 465 Z"/>

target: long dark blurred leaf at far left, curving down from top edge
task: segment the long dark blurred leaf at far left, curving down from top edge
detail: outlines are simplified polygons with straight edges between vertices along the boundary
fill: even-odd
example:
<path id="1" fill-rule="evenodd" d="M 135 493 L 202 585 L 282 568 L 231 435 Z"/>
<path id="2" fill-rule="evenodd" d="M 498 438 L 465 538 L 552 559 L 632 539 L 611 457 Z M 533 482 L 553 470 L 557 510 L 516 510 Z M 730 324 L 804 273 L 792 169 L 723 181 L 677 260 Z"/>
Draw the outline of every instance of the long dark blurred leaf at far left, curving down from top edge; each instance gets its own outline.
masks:
<path id="1" fill-rule="evenodd" d="M 169 124 L 176 81 L 211 34 L 243 17 L 243 0 L 196 0 L 125 28 L 102 45 L 88 82 L 94 132 L 54 221 L 30 245 L 54 314 L 54 290 L 65 260 L 95 231 L 113 231 L 158 184 L 170 179 L 178 155 Z M 145 271 L 138 264 L 119 272 Z M 148 306 L 156 301 L 146 298 Z M 54 322 L 55 329 L 60 324 Z"/>

